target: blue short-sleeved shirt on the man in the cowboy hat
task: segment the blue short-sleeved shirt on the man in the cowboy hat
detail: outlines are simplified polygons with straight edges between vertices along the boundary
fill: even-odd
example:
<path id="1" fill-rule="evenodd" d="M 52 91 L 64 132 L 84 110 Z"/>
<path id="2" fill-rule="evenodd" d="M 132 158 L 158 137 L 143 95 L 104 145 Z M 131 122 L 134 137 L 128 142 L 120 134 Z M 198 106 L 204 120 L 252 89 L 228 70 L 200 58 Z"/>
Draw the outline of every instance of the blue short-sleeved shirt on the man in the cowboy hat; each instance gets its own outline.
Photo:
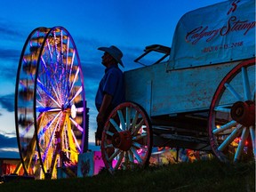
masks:
<path id="1" fill-rule="evenodd" d="M 105 93 L 113 96 L 111 102 L 112 108 L 116 108 L 117 105 L 125 101 L 124 74 L 120 68 L 112 66 L 105 69 L 105 75 L 100 80 L 99 88 L 95 97 L 95 105 L 98 110 L 100 109 Z"/>

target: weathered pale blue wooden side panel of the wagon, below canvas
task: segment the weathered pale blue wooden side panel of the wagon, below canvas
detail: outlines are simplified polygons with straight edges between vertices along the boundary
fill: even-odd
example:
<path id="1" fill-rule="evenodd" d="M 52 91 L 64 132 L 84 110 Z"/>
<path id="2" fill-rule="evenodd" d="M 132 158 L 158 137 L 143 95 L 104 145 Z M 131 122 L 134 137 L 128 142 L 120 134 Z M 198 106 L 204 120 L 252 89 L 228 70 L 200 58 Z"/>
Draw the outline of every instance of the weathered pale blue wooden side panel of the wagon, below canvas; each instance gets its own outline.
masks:
<path id="1" fill-rule="evenodd" d="M 169 72 L 163 62 L 126 72 L 126 100 L 140 104 L 148 116 L 208 109 L 220 80 L 238 62 Z"/>

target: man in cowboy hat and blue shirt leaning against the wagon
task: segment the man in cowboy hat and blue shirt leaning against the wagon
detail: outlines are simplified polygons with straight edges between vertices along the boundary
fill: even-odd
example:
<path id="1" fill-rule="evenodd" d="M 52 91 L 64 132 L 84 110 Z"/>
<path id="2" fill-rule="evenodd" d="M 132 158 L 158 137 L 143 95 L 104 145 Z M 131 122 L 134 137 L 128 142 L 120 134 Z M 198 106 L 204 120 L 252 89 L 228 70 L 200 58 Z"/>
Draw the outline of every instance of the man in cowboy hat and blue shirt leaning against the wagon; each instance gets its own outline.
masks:
<path id="1" fill-rule="evenodd" d="M 106 67 L 105 75 L 100 80 L 99 88 L 95 97 L 95 105 L 99 111 L 97 116 L 97 131 L 95 133 L 95 143 L 100 145 L 104 124 L 110 112 L 117 105 L 124 102 L 124 74 L 118 63 L 124 68 L 122 62 L 123 53 L 114 45 L 110 47 L 100 47 L 103 51 L 101 63 Z"/>

